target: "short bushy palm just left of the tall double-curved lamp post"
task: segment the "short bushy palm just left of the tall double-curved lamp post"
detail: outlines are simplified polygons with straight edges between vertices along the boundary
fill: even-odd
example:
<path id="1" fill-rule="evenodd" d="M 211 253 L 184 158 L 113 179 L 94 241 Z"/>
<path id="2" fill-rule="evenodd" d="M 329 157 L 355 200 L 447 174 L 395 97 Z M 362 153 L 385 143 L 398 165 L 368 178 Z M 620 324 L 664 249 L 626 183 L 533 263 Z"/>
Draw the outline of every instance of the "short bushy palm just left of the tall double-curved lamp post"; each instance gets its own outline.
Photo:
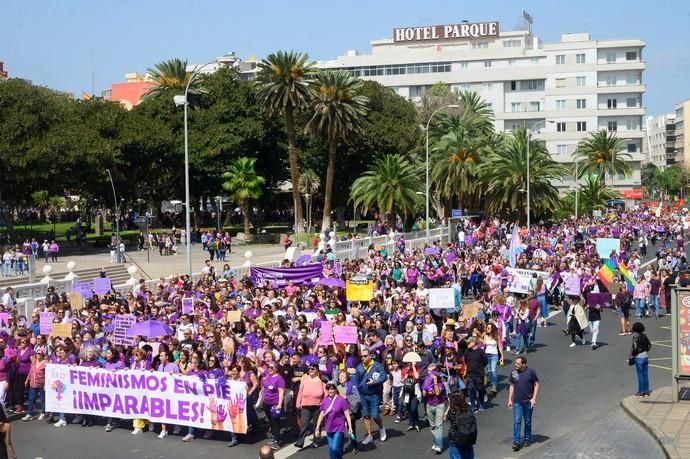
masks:
<path id="1" fill-rule="evenodd" d="M 374 160 L 371 169 L 354 181 L 350 201 L 363 206 L 365 212 L 376 207 L 393 227 L 396 212 L 404 216 L 413 212 L 419 189 L 421 180 L 414 166 L 402 155 L 386 155 Z"/>

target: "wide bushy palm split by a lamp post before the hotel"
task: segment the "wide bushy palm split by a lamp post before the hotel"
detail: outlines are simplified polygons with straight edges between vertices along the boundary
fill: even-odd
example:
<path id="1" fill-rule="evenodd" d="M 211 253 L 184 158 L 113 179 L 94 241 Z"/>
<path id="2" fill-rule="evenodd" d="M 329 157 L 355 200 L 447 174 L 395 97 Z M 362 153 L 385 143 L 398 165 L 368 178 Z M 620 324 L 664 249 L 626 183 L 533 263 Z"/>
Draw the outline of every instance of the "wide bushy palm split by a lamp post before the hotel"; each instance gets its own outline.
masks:
<path id="1" fill-rule="evenodd" d="M 489 212 L 518 209 L 524 215 L 527 188 L 526 129 L 516 129 L 505 139 L 503 148 L 491 151 L 480 170 L 479 186 L 484 190 Z M 558 189 L 553 182 L 568 169 L 551 158 L 544 142 L 529 138 L 530 205 L 545 211 L 559 205 Z"/>

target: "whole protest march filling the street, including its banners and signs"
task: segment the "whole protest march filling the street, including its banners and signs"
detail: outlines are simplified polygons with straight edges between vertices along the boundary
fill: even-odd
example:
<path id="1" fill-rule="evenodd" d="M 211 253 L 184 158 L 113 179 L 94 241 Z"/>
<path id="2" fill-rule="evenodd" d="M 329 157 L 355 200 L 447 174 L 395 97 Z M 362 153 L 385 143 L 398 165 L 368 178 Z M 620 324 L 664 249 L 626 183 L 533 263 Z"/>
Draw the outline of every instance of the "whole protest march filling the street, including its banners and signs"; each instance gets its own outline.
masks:
<path id="1" fill-rule="evenodd" d="M 621 335 L 631 308 L 640 319 L 666 314 L 688 269 L 683 217 L 641 208 L 531 228 L 468 218 L 446 243 L 413 248 L 397 235 L 357 259 L 325 248 L 244 277 L 207 266 L 129 291 L 82 280 L 29 317 L 2 304 L 0 397 L 26 422 L 72 431 L 229 446 L 267 438 L 279 449 L 304 447 L 319 412 L 336 409 L 335 390 L 353 421 L 348 450 L 404 422 L 428 426 L 440 454 L 434 413 L 455 391 L 486 409 L 507 353 L 548 352 L 536 351 L 539 327 L 563 328 L 574 346 L 582 330 L 569 311 L 590 323 L 602 308 L 619 311 Z M 649 269 L 643 245 L 656 250 Z"/>

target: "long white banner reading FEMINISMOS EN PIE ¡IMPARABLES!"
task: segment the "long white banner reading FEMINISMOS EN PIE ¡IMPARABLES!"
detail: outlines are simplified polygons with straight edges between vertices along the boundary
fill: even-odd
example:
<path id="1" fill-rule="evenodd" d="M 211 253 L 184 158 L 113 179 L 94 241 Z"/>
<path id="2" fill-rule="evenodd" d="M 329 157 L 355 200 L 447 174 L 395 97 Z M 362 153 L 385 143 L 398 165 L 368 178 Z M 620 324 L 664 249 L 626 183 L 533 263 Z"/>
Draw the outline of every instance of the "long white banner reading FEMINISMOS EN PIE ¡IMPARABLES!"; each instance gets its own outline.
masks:
<path id="1" fill-rule="evenodd" d="M 49 412 L 247 431 L 244 381 L 49 364 L 45 388 Z"/>

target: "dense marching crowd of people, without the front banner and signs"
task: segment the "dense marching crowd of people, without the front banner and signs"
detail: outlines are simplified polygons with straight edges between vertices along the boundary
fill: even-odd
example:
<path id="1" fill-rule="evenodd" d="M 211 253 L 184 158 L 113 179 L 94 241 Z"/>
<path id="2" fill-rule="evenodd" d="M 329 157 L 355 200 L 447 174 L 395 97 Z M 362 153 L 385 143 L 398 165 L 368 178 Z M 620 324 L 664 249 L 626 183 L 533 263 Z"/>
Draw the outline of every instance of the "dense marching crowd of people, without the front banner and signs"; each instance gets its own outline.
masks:
<path id="1" fill-rule="evenodd" d="M 454 228 L 447 244 L 430 241 L 413 248 L 399 237 L 394 247 L 370 246 L 359 259 L 340 260 L 328 253 L 314 257 L 311 263 L 322 265 L 323 278 L 371 280 L 370 301 L 348 300 L 345 289 L 320 282 L 253 283 L 249 277 L 238 278 L 227 265 L 216 271 L 207 264 L 196 280 L 173 275 L 154 288 L 142 281 L 134 291 L 94 294 L 80 311 L 71 310 L 66 293 L 49 295 L 31 317 L 18 317 L 4 304 L 8 319 L 0 331 L 1 396 L 25 421 L 46 420 L 58 428 L 100 423 L 109 432 L 126 423 L 45 412 L 47 363 L 222 375 L 246 382 L 246 435 L 266 434 L 274 449 L 288 440 L 302 448 L 310 437 L 318 446 L 324 432 L 330 457 L 338 458 L 375 439 L 386 441 L 386 425 L 406 423 L 408 431 L 428 427 L 431 449 L 440 454 L 448 422 L 451 457 L 465 459 L 473 457 L 477 438 L 474 415 L 506 390 L 497 376 L 513 352 L 520 356 L 514 359 L 508 390 L 515 420 L 513 449 L 518 450 L 531 441 L 531 410 L 539 391 L 525 354 L 535 351 L 538 329 L 554 325 L 546 320 L 551 310 L 563 310 L 558 321 L 571 335 L 572 346 L 585 344 L 583 330 L 589 327 L 590 344 L 597 348 L 604 305 L 584 300 L 587 293 L 606 291 L 597 276 L 602 262 L 596 239 L 619 239 L 620 249 L 612 257 L 627 263 L 637 280 L 632 292 L 623 289 L 611 301 L 625 334 L 639 331 L 637 325 L 629 329 L 633 300 L 640 318 L 659 317 L 670 308 L 671 284 L 687 267 L 686 231 L 680 214 L 657 216 L 645 209 L 530 229 L 497 219 L 467 219 Z M 218 239 L 223 237 L 210 240 Z M 641 244 L 652 239 L 659 242 L 658 268 L 645 271 Z M 208 238 L 205 243 L 209 253 L 216 251 Z M 535 276 L 526 293 L 516 293 L 510 288 L 511 265 L 547 274 Z M 284 268 L 292 266 L 294 262 L 283 261 Z M 579 278 L 580 294 L 566 295 L 568 275 Z M 618 270 L 614 282 L 624 282 Z M 430 308 L 429 292 L 436 287 L 455 289 L 462 301 Z M 184 298 L 194 300 L 193 312 L 182 312 Z M 72 335 L 41 334 L 43 311 L 53 312 L 55 323 L 70 323 Z M 241 311 L 241 319 L 227 320 L 228 311 Z M 157 320 L 174 333 L 137 337 L 134 346 L 114 345 L 117 314 Z M 357 327 L 358 343 L 340 344 L 322 336 L 324 321 Z M 640 366 L 645 358 L 642 352 L 635 355 Z M 642 392 L 648 394 L 649 388 Z M 358 433 L 360 418 L 364 432 Z M 160 439 L 181 435 L 185 442 L 217 435 L 186 425 L 148 423 L 147 428 L 142 420 L 130 425 L 134 435 L 155 430 Z M 235 446 L 245 436 L 230 433 L 228 440 Z"/>

